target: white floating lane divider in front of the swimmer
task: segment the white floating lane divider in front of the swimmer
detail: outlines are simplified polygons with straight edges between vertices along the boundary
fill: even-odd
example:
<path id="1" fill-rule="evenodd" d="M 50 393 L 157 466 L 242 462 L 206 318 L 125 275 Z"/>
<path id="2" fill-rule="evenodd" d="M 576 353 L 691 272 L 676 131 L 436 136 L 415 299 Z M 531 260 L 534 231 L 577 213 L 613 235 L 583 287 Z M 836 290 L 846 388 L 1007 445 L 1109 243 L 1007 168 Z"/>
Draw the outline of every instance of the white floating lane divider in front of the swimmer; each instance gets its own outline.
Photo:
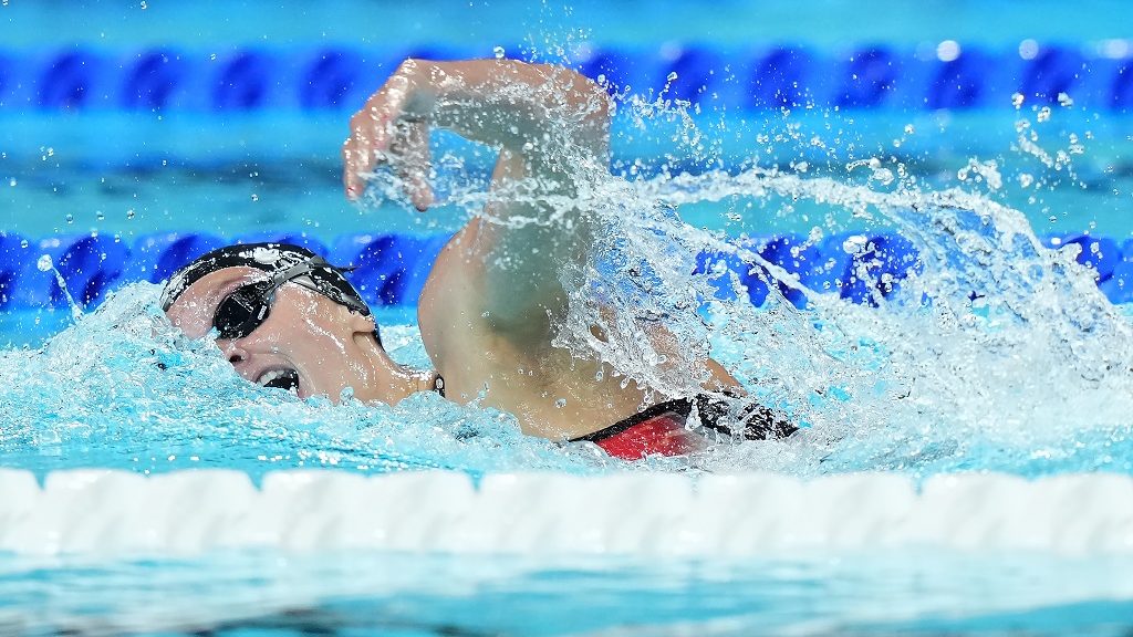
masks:
<path id="1" fill-rule="evenodd" d="M 1133 553 L 1133 477 L 0 469 L 0 553 L 230 549 L 776 557 L 821 550 Z"/>

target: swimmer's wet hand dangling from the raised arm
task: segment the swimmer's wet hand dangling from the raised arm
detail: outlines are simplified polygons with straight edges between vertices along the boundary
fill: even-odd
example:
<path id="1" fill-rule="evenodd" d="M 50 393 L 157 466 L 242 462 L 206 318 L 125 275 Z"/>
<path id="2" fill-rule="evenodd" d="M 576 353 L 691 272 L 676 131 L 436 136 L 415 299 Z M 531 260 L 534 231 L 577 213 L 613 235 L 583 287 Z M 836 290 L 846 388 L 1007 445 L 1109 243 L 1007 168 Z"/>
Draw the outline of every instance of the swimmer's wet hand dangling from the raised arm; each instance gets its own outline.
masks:
<path id="1" fill-rule="evenodd" d="M 425 117 L 432 96 L 420 90 L 419 70 L 414 60 L 402 62 L 350 118 L 350 137 L 342 144 L 342 181 L 348 198 L 361 197 L 365 176 L 389 165 L 414 207 L 424 212 L 432 205 L 429 122 Z"/>

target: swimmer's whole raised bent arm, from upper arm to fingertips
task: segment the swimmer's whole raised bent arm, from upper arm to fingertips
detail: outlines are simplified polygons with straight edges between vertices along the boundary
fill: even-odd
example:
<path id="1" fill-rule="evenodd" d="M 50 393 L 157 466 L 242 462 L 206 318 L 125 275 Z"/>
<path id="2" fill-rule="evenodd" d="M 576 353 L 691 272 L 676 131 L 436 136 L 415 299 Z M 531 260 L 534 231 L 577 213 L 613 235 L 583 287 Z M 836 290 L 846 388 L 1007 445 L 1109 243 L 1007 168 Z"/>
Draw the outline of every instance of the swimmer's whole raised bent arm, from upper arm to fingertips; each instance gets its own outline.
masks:
<path id="1" fill-rule="evenodd" d="M 428 185 L 431 126 L 500 150 L 484 214 L 458 235 L 459 272 L 437 272 L 444 294 L 520 349 L 550 342 L 564 316 L 562 269 L 593 244 L 587 215 L 548 223 L 574 202 L 577 177 L 608 173 L 610 96 L 563 67 L 516 60 L 407 60 L 351 119 L 344 187 L 360 196 L 366 175 L 387 165 L 420 211 Z M 547 197 L 557 197 L 552 199 Z M 518 223 L 511 223 L 518 220 Z M 534 220 L 535 222 L 531 222 Z"/>

